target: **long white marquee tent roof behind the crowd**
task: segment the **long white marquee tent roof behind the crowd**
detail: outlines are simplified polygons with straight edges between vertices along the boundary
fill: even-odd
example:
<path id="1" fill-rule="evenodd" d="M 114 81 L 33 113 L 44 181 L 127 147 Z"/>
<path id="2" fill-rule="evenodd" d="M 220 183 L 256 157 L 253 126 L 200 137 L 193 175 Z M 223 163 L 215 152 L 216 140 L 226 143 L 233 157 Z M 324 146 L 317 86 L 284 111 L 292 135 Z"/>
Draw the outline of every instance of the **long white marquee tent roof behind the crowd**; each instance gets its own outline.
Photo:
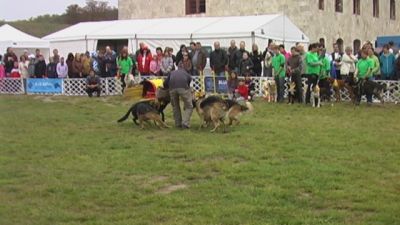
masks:
<path id="1" fill-rule="evenodd" d="M 68 52 L 94 51 L 98 40 L 128 40 L 134 52 L 139 42 L 151 49 L 169 46 L 178 50 L 180 44 L 201 41 L 212 46 L 220 41 L 228 47 L 230 40 L 245 41 L 247 48 L 256 43 L 264 48 L 268 40 L 287 44 L 308 43 L 308 37 L 286 16 L 281 14 L 235 17 L 181 17 L 148 20 L 119 20 L 79 23 L 43 38 L 62 55 Z"/>

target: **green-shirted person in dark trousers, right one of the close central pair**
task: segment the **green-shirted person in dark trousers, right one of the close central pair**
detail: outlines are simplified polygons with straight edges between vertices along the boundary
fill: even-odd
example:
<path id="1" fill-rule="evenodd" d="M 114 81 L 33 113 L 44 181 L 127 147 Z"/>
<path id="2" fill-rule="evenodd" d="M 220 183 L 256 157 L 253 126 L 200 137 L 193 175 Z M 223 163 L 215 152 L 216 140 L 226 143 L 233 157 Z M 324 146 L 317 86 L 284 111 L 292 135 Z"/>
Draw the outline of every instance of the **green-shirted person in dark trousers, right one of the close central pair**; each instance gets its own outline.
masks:
<path id="1" fill-rule="evenodd" d="M 322 48 L 319 51 L 319 57 L 322 62 L 322 66 L 319 73 L 319 86 L 322 88 L 321 91 L 321 100 L 324 101 L 325 99 L 330 101 L 331 100 L 331 84 L 328 80 L 329 73 L 331 71 L 331 62 L 329 61 L 328 57 L 326 57 L 326 49 Z"/>

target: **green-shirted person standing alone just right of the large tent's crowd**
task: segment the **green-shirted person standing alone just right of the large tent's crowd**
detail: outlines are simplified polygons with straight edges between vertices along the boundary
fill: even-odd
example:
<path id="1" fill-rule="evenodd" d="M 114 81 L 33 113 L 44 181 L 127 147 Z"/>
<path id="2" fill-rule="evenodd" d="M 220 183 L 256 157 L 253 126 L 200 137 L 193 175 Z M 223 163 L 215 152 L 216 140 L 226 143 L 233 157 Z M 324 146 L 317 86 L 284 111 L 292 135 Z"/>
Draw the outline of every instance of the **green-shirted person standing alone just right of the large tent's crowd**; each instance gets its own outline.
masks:
<path id="1" fill-rule="evenodd" d="M 278 92 L 277 102 L 281 103 L 283 102 L 283 95 L 285 91 L 286 58 L 281 54 L 277 45 L 273 46 L 273 51 L 275 55 L 272 57 L 272 74 L 274 75 Z"/>

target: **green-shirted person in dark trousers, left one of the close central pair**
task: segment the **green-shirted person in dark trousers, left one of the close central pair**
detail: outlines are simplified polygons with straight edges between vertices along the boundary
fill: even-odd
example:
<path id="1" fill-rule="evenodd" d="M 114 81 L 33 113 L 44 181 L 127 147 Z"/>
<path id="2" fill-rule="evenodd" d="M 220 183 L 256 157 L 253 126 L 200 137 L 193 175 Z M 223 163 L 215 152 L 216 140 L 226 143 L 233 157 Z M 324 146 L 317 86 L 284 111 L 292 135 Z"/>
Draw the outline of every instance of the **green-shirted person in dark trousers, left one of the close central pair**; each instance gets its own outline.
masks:
<path id="1" fill-rule="evenodd" d="M 306 65 L 307 65 L 307 92 L 306 92 L 306 104 L 310 103 L 311 98 L 311 86 L 315 86 L 318 83 L 318 76 L 321 72 L 322 61 L 318 56 L 320 44 L 314 43 L 309 46 L 309 51 L 306 53 Z"/>

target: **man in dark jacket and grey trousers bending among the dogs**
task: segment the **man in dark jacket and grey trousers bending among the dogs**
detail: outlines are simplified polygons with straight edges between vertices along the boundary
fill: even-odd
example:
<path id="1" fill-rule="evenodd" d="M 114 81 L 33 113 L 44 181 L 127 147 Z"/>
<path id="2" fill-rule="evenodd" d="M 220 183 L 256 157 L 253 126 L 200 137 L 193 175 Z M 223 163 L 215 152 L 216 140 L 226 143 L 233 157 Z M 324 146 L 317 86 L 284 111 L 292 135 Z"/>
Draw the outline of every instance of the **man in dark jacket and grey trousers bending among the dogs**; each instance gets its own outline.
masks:
<path id="1" fill-rule="evenodd" d="M 190 127 L 190 117 L 193 112 L 190 82 L 192 82 L 192 77 L 181 67 L 178 70 L 172 71 L 164 82 L 164 87 L 169 88 L 175 127 L 177 128 L 189 129 Z M 183 115 L 179 105 L 180 99 L 183 101 L 184 106 Z"/>

